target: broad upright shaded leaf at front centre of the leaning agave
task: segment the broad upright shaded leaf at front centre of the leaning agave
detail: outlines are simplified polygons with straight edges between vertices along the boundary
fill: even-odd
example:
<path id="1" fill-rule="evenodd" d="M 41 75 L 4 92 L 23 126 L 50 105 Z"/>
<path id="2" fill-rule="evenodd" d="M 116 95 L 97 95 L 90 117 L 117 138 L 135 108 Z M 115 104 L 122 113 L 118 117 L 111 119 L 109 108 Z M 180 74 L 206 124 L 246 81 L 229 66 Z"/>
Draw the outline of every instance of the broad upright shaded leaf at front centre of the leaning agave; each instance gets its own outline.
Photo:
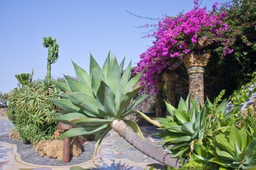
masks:
<path id="1" fill-rule="evenodd" d="M 100 87 L 96 97 L 99 109 L 106 115 L 115 118 L 117 111 L 115 109 L 115 93 L 106 85 L 104 81 L 100 81 Z"/>

